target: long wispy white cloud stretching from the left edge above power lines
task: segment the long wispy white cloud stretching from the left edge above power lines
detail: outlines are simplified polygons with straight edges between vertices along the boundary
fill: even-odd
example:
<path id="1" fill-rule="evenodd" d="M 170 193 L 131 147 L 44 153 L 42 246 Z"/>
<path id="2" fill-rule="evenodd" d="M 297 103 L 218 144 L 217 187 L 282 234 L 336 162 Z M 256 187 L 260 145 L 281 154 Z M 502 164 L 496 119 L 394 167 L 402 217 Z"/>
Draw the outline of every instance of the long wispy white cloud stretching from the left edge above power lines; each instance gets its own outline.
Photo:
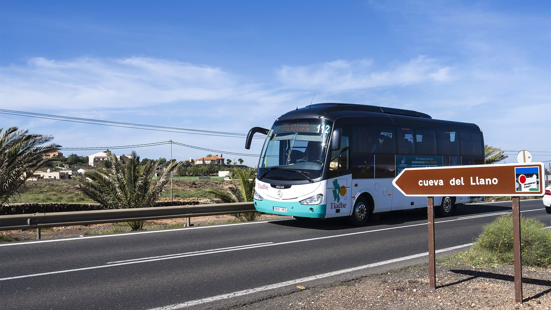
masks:
<path id="1" fill-rule="evenodd" d="M 149 57 L 67 61 L 37 57 L 2 68 L 1 78 L 0 100 L 21 108 L 134 108 L 271 97 L 271 91 L 220 68 Z"/>

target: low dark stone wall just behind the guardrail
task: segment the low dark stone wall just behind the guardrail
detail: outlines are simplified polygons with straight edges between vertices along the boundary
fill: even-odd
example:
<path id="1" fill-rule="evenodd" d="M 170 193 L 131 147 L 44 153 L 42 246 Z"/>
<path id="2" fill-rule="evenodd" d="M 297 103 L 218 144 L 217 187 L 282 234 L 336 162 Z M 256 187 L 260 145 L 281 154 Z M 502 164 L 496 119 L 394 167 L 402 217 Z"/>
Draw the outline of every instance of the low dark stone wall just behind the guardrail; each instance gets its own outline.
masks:
<path id="1" fill-rule="evenodd" d="M 157 201 L 155 207 L 166 206 L 185 206 L 185 205 L 200 205 L 204 202 L 200 201 Z M 0 206 L 0 215 L 12 214 L 31 214 L 31 213 L 50 213 L 50 212 L 72 212 L 72 211 L 91 211 L 102 210 L 100 204 L 58 204 L 56 202 L 43 204 L 10 204 Z"/>

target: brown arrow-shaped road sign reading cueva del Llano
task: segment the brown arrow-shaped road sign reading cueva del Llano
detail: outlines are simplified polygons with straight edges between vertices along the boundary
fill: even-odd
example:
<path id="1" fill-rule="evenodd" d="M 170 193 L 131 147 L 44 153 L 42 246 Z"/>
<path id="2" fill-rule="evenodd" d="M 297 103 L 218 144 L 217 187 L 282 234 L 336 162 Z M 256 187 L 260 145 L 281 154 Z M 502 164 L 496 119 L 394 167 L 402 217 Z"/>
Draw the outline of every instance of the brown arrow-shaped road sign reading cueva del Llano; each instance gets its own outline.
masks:
<path id="1" fill-rule="evenodd" d="M 406 168 L 392 184 L 406 196 L 542 196 L 543 163 Z"/>

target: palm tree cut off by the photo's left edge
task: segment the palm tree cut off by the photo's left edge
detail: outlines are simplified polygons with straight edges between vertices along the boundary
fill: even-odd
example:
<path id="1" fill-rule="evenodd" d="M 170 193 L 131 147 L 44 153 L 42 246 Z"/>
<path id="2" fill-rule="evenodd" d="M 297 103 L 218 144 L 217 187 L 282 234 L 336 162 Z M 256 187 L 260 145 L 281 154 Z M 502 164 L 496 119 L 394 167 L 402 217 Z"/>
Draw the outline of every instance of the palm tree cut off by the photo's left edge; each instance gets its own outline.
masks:
<path id="1" fill-rule="evenodd" d="M 18 196 L 19 188 L 36 170 L 51 165 L 57 158 L 44 158 L 45 154 L 57 151 L 61 146 L 50 143 L 53 136 L 28 133 L 10 127 L 0 129 L 0 206 L 10 197 Z"/>

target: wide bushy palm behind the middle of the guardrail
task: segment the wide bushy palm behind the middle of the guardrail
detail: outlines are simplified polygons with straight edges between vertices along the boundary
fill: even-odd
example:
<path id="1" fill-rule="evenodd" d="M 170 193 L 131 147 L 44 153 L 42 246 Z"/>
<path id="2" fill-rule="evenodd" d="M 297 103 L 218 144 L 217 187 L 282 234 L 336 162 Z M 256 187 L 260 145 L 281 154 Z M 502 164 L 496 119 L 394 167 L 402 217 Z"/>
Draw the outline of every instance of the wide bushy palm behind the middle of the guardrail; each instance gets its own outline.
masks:
<path id="1" fill-rule="evenodd" d="M 132 152 L 130 161 L 123 165 L 114 153 L 109 154 L 112 169 L 90 169 L 77 177 L 77 188 L 106 209 L 133 209 L 153 207 L 165 186 L 182 162 L 174 162 L 165 168 L 156 183 L 153 181 L 159 161 L 140 163 L 138 154 Z M 128 222 L 133 231 L 143 229 L 144 221 Z"/>

